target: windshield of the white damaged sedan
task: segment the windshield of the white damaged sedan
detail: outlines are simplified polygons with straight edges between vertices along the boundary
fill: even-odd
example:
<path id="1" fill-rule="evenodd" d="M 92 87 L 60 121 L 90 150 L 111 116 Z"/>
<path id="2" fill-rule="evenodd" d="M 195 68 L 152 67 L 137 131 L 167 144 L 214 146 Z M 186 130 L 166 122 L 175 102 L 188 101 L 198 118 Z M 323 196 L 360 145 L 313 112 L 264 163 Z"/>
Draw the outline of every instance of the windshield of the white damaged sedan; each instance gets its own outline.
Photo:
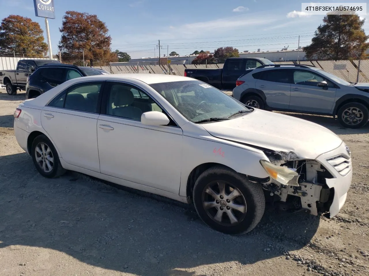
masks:
<path id="1" fill-rule="evenodd" d="M 198 80 L 162 82 L 150 86 L 193 123 L 214 118 L 226 120 L 237 113 L 252 111 L 231 96 Z"/>

